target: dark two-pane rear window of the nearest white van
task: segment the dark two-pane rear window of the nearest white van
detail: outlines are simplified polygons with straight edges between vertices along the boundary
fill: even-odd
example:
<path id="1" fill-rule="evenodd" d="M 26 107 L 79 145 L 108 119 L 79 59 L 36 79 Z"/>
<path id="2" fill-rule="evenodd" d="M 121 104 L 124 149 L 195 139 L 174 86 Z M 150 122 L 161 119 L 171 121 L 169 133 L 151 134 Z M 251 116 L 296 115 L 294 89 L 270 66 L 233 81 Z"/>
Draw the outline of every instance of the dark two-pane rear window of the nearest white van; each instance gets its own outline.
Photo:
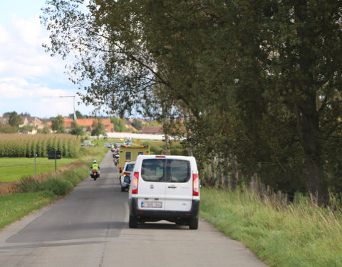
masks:
<path id="1" fill-rule="evenodd" d="M 190 162 L 181 159 L 144 159 L 141 177 L 146 182 L 187 182 Z"/>

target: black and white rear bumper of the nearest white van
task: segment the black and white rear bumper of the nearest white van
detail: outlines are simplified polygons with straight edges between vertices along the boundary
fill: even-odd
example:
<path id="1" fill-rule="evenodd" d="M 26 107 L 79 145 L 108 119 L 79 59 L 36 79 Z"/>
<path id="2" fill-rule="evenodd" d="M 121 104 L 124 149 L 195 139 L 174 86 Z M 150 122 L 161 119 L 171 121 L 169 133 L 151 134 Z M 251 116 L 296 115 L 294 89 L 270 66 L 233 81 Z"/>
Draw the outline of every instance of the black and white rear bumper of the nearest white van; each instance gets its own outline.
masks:
<path id="1" fill-rule="evenodd" d="M 129 199 L 130 216 L 140 218 L 141 221 L 177 221 L 184 219 L 197 218 L 199 214 L 199 200 L 192 199 L 190 211 L 161 211 L 161 210 L 145 210 L 138 209 L 138 199 Z"/>

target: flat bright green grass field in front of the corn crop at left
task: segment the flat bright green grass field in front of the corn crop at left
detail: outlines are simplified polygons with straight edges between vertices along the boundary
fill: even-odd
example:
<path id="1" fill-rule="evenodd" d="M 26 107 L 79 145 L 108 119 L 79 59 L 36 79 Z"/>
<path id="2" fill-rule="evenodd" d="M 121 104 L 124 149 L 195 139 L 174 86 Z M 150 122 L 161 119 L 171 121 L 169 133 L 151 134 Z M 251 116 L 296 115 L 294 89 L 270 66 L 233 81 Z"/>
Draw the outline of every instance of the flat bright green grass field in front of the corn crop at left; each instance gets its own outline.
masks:
<path id="1" fill-rule="evenodd" d="M 57 159 L 57 169 L 77 159 Z M 36 173 L 53 172 L 55 160 L 47 158 L 36 158 Z M 0 158 L 0 182 L 16 182 L 21 177 L 34 177 L 34 158 L 26 157 L 1 157 Z"/>

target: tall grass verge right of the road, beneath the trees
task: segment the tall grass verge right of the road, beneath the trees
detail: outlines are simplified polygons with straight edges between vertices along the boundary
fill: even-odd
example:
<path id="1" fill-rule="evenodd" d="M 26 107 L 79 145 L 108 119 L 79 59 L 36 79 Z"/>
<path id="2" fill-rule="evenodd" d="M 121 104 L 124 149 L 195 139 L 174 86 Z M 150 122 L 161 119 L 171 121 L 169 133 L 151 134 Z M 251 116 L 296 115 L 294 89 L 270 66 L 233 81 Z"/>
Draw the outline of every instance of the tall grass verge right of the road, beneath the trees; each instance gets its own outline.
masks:
<path id="1" fill-rule="evenodd" d="M 342 266 L 342 215 L 302 199 L 276 208 L 254 194 L 201 189 L 200 216 L 269 266 Z"/>

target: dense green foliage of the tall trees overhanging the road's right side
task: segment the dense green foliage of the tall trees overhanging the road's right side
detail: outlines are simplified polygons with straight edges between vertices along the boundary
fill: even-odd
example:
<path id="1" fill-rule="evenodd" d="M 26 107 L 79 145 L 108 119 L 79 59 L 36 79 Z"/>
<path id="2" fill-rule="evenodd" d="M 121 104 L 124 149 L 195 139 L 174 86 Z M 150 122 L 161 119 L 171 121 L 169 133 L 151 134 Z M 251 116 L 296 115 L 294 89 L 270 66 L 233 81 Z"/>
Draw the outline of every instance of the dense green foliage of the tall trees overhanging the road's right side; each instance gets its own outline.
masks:
<path id="1" fill-rule="evenodd" d="M 243 182 L 257 174 L 320 204 L 341 190 L 341 1 L 95 1 L 88 15 L 48 4 L 47 49 L 80 51 L 84 100 L 169 133 L 183 117 L 201 169 L 209 154 L 234 158 Z"/>

